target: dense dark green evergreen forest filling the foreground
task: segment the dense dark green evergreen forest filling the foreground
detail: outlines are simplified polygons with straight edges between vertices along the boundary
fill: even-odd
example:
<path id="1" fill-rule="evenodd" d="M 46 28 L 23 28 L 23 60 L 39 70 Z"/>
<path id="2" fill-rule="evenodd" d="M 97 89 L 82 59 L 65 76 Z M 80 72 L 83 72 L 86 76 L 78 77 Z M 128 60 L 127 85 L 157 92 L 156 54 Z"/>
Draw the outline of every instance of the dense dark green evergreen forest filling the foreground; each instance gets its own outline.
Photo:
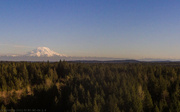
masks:
<path id="1" fill-rule="evenodd" d="M 0 111 L 180 112 L 180 63 L 0 62 Z"/>

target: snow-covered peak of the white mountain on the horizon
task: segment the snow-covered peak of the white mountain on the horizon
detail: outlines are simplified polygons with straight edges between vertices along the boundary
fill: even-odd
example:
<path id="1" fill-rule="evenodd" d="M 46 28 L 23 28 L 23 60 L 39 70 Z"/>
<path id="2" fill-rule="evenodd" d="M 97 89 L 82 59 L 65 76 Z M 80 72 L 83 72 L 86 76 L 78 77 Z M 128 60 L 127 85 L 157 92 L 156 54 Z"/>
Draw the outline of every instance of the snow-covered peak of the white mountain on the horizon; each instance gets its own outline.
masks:
<path id="1" fill-rule="evenodd" d="M 52 57 L 52 56 L 65 56 L 65 55 L 56 53 L 50 50 L 48 47 L 38 47 L 37 49 L 28 52 L 26 56 Z"/>

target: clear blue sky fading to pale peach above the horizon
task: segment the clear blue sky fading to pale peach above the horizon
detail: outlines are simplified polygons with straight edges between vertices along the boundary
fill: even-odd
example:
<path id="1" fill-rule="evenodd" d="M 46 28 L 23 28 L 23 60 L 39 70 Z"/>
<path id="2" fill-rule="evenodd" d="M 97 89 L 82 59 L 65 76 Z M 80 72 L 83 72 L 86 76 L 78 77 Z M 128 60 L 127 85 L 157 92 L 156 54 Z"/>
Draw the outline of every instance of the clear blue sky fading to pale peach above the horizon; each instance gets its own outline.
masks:
<path id="1" fill-rule="evenodd" d="M 0 0 L 0 55 L 180 59 L 178 0 Z"/>

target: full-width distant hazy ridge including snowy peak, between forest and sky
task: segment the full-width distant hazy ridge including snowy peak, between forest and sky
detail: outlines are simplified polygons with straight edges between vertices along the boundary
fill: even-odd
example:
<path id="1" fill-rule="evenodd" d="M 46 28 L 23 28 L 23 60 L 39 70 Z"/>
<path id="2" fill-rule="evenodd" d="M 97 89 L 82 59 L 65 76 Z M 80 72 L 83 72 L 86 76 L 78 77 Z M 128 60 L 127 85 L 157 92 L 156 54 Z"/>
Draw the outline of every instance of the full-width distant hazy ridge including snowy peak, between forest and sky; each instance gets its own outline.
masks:
<path id="1" fill-rule="evenodd" d="M 121 63 L 121 62 L 168 62 L 165 59 L 127 59 L 127 58 L 108 58 L 108 57 L 73 57 L 59 54 L 48 47 L 38 47 L 24 55 L 4 55 L 0 56 L 0 61 L 73 61 L 82 63 Z M 170 60 L 179 61 L 179 60 Z"/>

